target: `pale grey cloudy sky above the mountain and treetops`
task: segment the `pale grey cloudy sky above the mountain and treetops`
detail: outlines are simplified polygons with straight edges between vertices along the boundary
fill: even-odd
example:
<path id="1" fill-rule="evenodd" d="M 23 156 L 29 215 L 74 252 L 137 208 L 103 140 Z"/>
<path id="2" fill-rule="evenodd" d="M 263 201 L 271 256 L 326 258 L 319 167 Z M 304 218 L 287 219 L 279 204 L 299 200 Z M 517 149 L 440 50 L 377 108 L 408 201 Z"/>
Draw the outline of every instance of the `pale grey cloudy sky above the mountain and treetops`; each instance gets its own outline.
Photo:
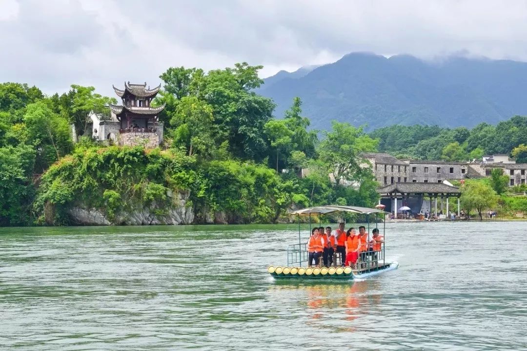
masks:
<path id="1" fill-rule="evenodd" d="M 113 95 L 170 66 L 280 69 L 352 51 L 527 61 L 527 1 L 0 0 L 0 81 Z"/>

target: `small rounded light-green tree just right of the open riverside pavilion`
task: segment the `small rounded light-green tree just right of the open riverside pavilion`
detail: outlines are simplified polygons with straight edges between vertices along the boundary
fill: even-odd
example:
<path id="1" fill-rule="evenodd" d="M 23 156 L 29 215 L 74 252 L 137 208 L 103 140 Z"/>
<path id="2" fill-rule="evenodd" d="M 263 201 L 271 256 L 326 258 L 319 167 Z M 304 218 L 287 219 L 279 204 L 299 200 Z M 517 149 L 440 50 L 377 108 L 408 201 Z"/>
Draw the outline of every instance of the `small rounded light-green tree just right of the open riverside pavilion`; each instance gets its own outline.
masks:
<path id="1" fill-rule="evenodd" d="M 483 220 L 483 211 L 497 205 L 497 196 L 490 185 L 482 181 L 466 181 L 461 187 L 461 204 L 467 211 L 476 210 Z"/>

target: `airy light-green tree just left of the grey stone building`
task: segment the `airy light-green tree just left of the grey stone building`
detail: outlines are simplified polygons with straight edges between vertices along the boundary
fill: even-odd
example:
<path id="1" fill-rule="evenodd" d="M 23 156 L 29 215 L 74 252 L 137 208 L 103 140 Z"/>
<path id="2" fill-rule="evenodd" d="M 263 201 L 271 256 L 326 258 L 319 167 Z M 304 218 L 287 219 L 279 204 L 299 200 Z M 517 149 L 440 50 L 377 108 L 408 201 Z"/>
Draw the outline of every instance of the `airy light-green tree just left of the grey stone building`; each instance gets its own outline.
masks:
<path id="1" fill-rule="evenodd" d="M 324 132 L 325 139 L 319 144 L 320 160 L 333 174 L 338 187 L 341 179 L 353 180 L 360 171 L 363 152 L 375 151 L 377 140 L 370 138 L 363 128 L 349 123 L 331 122 L 331 131 Z"/>

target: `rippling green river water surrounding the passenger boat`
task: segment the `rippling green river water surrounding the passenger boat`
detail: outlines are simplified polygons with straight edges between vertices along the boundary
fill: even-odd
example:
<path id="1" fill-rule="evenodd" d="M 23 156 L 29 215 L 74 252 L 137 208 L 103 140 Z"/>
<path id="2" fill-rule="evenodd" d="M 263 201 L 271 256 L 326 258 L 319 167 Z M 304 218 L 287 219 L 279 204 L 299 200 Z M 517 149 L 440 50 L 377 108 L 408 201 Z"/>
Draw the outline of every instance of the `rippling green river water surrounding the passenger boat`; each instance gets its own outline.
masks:
<path id="1" fill-rule="evenodd" d="M 525 223 L 388 223 L 398 270 L 272 280 L 297 238 L 295 225 L 2 228 L 0 349 L 527 350 Z"/>

